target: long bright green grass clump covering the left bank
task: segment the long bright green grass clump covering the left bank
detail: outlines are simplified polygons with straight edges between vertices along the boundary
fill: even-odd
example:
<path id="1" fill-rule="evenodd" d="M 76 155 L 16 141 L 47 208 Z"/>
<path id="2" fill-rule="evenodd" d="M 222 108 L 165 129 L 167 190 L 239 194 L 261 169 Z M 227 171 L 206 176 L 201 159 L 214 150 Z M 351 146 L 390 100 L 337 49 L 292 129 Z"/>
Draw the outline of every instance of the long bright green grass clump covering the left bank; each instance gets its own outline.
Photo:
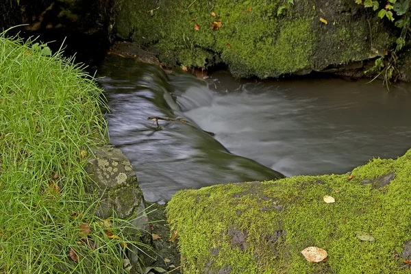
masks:
<path id="1" fill-rule="evenodd" d="M 97 219 L 84 191 L 101 92 L 73 59 L 0 34 L 0 273 L 124 271 L 127 223 Z"/>

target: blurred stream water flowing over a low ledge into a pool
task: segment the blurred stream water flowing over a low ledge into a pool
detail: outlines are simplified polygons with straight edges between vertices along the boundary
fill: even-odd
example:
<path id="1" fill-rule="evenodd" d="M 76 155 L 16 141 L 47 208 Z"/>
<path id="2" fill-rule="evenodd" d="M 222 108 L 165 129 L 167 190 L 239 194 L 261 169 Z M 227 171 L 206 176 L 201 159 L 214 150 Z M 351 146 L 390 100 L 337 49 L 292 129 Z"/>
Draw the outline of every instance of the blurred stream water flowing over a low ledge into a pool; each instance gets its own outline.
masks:
<path id="1" fill-rule="evenodd" d="M 387 92 L 381 82 L 236 81 L 226 72 L 202 81 L 114 57 L 100 75 L 110 140 L 131 160 L 148 201 L 280 173 L 345 173 L 411 146 L 406 84 Z M 157 127 L 149 116 L 169 121 Z"/>

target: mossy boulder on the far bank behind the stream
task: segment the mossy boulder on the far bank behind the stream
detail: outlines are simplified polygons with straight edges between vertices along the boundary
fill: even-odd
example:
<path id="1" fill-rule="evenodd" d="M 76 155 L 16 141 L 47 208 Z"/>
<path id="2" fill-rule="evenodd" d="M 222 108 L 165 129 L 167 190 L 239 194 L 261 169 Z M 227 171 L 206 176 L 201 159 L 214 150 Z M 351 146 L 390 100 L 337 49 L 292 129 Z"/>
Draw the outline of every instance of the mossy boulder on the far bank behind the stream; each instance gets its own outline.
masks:
<path id="1" fill-rule="evenodd" d="M 124 0 L 114 33 L 169 65 L 223 62 L 236 77 L 260 78 L 369 60 L 395 42 L 389 23 L 347 0 Z"/>

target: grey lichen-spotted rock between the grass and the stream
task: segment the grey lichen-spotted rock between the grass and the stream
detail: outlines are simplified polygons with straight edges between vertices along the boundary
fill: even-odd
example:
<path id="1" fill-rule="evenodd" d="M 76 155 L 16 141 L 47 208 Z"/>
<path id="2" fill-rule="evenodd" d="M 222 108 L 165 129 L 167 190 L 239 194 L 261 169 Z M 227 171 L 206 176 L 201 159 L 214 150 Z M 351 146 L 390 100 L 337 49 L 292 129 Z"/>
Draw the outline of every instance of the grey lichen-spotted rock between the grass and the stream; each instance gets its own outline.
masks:
<path id="1" fill-rule="evenodd" d="M 86 191 L 101 198 L 96 215 L 101 219 L 110 216 L 132 220 L 132 228 L 127 230 L 129 238 L 137 242 L 147 242 L 147 214 L 142 191 L 138 187 L 136 173 L 127 157 L 120 149 L 108 144 L 92 149 L 94 156 L 89 158 L 85 169 L 93 182 Z M 140 269 L 140 259 L 144 260 L 139 249 L 129 253 L 132 269 Z M 140 258 L 139 258 L 140 257 Z"/>

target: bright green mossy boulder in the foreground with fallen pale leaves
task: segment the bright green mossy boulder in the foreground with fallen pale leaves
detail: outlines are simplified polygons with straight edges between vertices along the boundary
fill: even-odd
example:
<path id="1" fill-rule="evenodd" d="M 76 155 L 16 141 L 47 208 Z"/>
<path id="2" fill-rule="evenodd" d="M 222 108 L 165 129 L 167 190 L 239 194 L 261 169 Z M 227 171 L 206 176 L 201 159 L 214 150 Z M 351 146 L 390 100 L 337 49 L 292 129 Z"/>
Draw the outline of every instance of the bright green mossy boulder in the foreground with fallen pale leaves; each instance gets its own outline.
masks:
<path id="1" fill-rule="evenodd" d="M 351 175 L 177 192 L 167 214 L 184 273 L 409 273 L 411 150 Z M 301 251 L 311 246 L 325 249 L 327 260 L 307 262 Z"/>

